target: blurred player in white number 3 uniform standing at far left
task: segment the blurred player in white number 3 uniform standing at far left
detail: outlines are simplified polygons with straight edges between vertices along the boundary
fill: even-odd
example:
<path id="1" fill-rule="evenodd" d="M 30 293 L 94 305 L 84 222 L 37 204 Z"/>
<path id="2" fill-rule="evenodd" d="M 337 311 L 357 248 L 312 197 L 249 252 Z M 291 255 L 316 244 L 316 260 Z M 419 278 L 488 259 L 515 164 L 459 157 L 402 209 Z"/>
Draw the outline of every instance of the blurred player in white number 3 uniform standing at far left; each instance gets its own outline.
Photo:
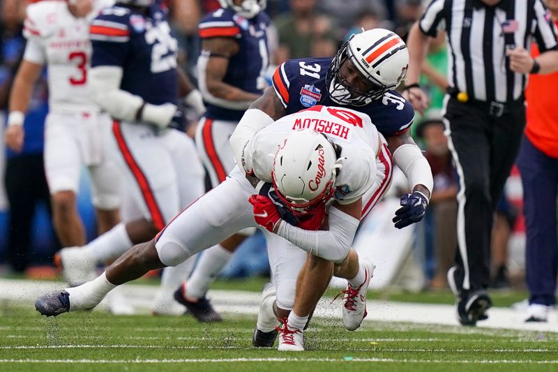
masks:
<path id="1" fill-rule="evenodd" d="M 91 60 L 89 21 L 106 3 L 71 0 L 31 4 L 24 23 L 27 46 L 10 94 L 6 144 L 20 152 L 33 84 L 47 65 L 50 112 L 45 124 L 45 172 L 54 229 L 63 246 L 86 243 L 76 207 L 82 165 L 91 176 L 99 232 L 120 221 L 120 175 L 105 158 L 100 135 L 110 121 L 91 101 L 87 70 Z"/>

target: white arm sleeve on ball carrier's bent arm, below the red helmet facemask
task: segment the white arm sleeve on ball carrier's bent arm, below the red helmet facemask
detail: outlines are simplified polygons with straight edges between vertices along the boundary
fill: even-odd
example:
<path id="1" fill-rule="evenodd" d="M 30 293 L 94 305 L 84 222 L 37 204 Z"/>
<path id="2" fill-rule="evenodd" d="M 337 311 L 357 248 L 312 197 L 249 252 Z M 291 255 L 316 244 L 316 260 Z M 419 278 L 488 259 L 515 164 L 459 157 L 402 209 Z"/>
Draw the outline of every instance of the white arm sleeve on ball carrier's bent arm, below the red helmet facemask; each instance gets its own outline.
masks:
<path id="1" fill-rule="evenodd" d="M 339 263 L 349 254 L 358 227 L 358 219 L 330 207 L 329 230 L 303 230 L 281 221 L 277 235 L 312 255 Z"/>

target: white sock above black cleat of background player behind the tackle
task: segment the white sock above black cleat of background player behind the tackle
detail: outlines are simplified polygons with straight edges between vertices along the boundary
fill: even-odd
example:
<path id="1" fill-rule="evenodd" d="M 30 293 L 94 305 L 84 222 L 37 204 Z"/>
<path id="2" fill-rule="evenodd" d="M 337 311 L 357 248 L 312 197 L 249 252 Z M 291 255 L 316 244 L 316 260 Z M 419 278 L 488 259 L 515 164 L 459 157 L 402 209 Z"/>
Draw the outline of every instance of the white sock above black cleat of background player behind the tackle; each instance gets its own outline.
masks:
<path id="1" fill-rule="evenodd" d="M 227 251 L 223 246 L 217 244 L 202 253 L 192 276 L 186 283 L 186 296 L 200 299 L 204 297 L 209 289 L 209 285 L 213 283 L 221 269 L 232 257 L 232 253 Z"/>

